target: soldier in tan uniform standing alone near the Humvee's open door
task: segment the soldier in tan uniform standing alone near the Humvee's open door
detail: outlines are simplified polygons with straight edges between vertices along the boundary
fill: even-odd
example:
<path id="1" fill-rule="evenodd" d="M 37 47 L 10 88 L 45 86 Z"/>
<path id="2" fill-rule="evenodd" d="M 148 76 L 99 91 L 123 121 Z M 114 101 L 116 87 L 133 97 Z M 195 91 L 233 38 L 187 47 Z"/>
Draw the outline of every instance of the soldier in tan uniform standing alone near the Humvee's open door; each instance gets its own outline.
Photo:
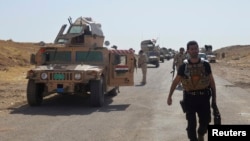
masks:
<path id="1" fill-rule="evenodd" d="M 147 57 L 144 54 L 143 50 L 139 51 L 139 57 L 138 57 L 138 68 L 141 68 L 142 70 L 142 85 L 146 84 L 146 75 L 147 75 Z"/>

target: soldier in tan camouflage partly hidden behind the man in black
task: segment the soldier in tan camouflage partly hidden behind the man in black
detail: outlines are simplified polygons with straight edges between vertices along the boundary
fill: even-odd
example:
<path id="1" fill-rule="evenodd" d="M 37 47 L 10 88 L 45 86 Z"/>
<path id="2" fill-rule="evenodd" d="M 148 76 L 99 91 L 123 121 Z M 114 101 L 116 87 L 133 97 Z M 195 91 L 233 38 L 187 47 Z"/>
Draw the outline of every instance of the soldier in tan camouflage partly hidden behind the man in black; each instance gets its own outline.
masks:
<path id="1" fill-rule="evenodd" d="M 184 52 L 184 48 L 181 47 L 179 49 L 179 53 L 174 56 L 173 60 L 173 71 L 179 70 L 179 67 L 183 64 L 183 61 L 186 59 L 186 54 Z M 181 83 L 178 84 L 178 87 L 181 87 Z"/>

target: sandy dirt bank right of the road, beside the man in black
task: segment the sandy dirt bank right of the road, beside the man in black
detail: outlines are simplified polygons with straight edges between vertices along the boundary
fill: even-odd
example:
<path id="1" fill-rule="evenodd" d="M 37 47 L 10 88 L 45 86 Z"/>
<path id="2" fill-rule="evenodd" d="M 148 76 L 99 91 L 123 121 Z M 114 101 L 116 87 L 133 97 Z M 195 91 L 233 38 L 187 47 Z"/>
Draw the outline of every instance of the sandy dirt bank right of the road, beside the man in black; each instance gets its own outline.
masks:
<path id="1" fill-rule="evenodd" d="M 250 92 L 250 46 L 229 46 L 215 53 L 217 63 L 211 63 L 214 74 Z"/>

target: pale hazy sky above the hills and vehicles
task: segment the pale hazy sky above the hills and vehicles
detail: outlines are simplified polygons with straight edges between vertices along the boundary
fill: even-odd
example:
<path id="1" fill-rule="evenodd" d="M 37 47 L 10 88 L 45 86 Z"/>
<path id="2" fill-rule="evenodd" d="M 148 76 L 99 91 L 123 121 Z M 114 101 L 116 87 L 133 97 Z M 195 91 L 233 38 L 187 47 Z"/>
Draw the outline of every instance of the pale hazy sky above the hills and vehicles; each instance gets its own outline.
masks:
<path id="1" fill-rule="evenodd" d="M 53 42 L 68 17 L 92 17 L 105 40 L 140 49 L 157 39 L 179 49 L 190 40 L 218 49 L 250 44 L 249 0 L 6 0 L 0 2 L 0 39 Z"/>

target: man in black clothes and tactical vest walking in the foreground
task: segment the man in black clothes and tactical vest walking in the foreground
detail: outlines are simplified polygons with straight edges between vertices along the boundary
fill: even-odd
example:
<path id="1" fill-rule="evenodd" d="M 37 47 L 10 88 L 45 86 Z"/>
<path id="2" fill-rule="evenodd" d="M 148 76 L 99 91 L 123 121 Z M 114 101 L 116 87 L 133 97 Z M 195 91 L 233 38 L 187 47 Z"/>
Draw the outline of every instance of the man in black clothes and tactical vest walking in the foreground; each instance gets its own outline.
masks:
<path id="1" fill-rule="evenodd" d="M 199 47 L 196 41 L 187 43 L 187 52 L 190 55 L 178 70 L 167 103 L 172 104 L 172 95 L 177 84 L 181 81 L 184 93 L 184 107 L 187 119 L 187 135 L 190 141 L 204 141 L 204 135 L 211 122 L 210 98 L 212 105 L 216 104 L 216 87 L 210 64 L 198 57 Z M 202 83 L 201 83 L 202 82 Z M 196 132 L 198 115 L 198 138 Z"/>

